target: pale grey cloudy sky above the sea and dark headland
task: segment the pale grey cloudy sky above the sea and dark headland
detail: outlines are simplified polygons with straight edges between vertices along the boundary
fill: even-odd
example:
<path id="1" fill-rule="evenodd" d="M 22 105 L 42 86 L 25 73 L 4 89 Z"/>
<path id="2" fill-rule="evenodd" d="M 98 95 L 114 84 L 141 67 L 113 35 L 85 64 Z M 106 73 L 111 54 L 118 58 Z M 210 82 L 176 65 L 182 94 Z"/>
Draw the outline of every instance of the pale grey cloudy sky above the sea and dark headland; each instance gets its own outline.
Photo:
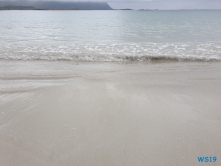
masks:
<path id="1" fill-rule="evenodd" d="M 17 1 L 26 1 L 26 0 L 17 0 Z M 44 0 L 39 0 L 39 1 L 44 1 Z M 50 0 L 47 0 L 47 1 L 50 1 Z M 53 0 L 53 1 L 56 1 L 56 0 Z M 108 2 L 108 4 L 114 9 L 125 9 L 125 8 L 130 8 L 130 9 L 221 9 L 221 0 L 57 0 L 57 1 Z"/>

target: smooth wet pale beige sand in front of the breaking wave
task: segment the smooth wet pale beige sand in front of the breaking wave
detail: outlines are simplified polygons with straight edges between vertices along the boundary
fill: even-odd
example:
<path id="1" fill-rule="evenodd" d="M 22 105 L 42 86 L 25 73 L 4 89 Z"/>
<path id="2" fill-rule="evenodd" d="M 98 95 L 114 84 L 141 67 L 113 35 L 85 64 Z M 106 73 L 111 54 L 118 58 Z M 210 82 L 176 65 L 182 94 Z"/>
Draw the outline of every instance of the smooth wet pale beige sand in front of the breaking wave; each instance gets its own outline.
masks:
<path id="1" fill-rule="evenodd" d="M 204 165 L 198 156 L 221 165 L 220 62 L 0 61 L 1 166 Z"/>

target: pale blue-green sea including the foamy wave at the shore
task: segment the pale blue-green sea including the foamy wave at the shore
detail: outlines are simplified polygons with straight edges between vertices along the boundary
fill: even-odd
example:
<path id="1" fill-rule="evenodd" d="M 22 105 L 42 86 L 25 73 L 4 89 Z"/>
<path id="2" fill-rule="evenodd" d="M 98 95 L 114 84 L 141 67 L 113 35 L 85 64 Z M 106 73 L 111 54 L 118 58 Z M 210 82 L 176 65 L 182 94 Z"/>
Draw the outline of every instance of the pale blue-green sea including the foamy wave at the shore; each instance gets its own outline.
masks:
<path id="1" fill-rule="evenodd" d="M 0 59 L 221 60 L 221 11 L 0 11 Z"/>

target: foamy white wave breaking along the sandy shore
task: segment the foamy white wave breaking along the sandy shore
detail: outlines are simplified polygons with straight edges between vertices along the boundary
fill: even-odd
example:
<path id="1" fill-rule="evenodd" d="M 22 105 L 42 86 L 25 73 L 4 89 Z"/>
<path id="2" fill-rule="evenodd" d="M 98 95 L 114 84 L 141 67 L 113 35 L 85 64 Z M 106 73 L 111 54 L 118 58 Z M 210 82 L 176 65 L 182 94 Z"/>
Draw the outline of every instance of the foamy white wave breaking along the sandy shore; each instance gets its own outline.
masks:
<path id="1" fill-rule="evenodd" d="M 72 44 L 62 46 L 1 46 L 4 60 L 220 61 L 220 43 Z"/>

